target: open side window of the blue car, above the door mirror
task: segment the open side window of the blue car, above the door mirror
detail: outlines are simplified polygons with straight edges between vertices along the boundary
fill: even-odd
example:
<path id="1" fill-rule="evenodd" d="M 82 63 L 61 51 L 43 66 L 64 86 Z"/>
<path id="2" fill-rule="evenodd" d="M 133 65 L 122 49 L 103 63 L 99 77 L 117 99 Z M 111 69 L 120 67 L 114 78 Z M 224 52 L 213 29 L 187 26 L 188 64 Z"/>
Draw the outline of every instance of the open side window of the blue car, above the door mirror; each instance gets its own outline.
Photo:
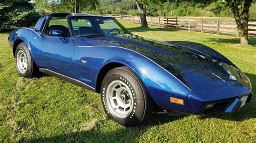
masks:
<path id="1" fill-rule="evenodd" d="M 62 37 L 70 37 L 68 23 L 66 21 L 66 17 L 51 17 L 48 28 L 46 28 L 45 33 L 48 35 L 52 35 L 53 30 L 62 31 Z"/>

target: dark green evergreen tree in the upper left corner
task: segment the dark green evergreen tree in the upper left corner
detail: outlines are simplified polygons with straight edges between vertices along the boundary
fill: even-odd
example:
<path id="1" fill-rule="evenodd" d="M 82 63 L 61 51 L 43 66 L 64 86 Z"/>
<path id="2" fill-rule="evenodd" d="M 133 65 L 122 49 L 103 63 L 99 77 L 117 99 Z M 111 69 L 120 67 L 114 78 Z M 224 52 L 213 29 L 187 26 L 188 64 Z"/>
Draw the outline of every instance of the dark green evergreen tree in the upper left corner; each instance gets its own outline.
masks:
<path id="1" fill-rule="evenodd" d="M 29 27 L 40 17 L 35 5 L 25 0 L 0 1 L 0 31 Z"/>

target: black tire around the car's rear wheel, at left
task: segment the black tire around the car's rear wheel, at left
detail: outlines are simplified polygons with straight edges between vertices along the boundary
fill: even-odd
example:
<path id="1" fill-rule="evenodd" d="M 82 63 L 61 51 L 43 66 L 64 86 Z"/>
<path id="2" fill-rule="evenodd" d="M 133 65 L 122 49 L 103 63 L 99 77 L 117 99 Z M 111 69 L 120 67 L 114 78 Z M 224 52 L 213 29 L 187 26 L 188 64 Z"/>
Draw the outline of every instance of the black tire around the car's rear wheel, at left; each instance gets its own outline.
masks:
<path id="1" fill-rule="evenodd" d="M 21 68 L 18 68 L 19 63 L 18 63 L 18 59 L 17 59 L 17 55 L 18 53 L 22 53 L 24 54 L 23 56 L 25 56 L 25 58 L 27 59 L 27 68 L 25 68 L 24 70 L 21 70 Z M 22 42 L 21 44 L 19 44 L 16 48 L 15 51 L 15 66 L 16 69 L 18 71 L 19 76 L 21 77 L 27 77 L 27 78 L 33 78 L 35 76 L 37 76 L 40 72 L 39 69 L 36 66 L 36 63 L 33 61 L 32 56 L 29 52 L 28 47 L 26 46 L 26 44 L 24 42 Z"/>

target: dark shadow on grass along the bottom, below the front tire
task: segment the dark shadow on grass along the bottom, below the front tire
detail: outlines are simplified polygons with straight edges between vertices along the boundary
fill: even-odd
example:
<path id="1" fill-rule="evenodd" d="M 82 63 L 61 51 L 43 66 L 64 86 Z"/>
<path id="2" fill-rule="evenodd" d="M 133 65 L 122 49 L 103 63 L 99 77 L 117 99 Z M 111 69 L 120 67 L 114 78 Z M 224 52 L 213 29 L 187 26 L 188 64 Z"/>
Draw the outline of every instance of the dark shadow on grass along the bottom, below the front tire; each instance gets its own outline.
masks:
<path id="1" fill-rule="evenodd" d="M 36 138 L 31 140 L 19 140 L 25 142 L 82 142 L 82 141 L 89 141 L 89 142 L 136 142 L 137 138 L 143 135 L 149 128 L 163 125 L 165 123 L 169 123 L 174 120 L 179 120 L 187 115 L 184 116 L 169 116 L 166 113 L 153 113 L 152 118 L 147 121 L 147 123 L 143 125 L 139 125 L 136 127 L 118 127 L 117 130 L 114 131 L 96 131 L 95 129 L 99 128 L 104 124 L 106 120 L 100 121 L 98 125 L 93 127 L 89 131 L 79 131 L 75 133 L 66 133 L 60 134 L 53 137 L 46 137 L 46 138 Z M 108 119 L 110 120 L 110 119 Z M 117 123 L 116 123 L 117 124 Z M 101 127 L 104 128 L 104 127 Z M 132 138 L 127 138 L 132 137 Z"/>

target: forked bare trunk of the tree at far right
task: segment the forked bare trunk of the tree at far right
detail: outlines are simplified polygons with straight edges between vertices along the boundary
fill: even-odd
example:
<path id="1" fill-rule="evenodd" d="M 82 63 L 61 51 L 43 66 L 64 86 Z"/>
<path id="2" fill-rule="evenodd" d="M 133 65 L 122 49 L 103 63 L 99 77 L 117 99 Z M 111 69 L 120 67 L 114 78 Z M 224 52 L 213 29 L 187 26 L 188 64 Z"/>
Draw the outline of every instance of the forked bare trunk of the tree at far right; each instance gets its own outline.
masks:
<path id="1" fill-rule="evenodd" d="M 235 22 L 237 23 L 237 29 L 240 34 L 240 44 L 248 45 L 248 22 L 249 22 L 249 10 L 253 0 L 245 1 L 241 15 L 239 13 L 238 3 L 231 2 L 231 8 L 234 14 Z"/>

